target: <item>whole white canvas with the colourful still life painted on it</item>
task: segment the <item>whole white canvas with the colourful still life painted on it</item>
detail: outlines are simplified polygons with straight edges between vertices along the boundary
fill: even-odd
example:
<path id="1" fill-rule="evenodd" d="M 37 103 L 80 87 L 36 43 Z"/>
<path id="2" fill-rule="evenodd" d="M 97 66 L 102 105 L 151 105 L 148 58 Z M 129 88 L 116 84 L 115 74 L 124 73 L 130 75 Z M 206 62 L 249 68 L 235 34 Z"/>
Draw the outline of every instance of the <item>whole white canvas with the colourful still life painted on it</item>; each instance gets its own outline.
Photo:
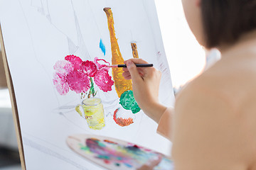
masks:
<path id="1" fill-rule="evenodd" d="M 130 58 L 154 64 L 159 101 L 173 106 L 154 0 L 0 0 L 0 21 L 28 170 L 102 169 L 68 147 L 75 134 L 170 153 L 132 81 L 107 67 Z"/>

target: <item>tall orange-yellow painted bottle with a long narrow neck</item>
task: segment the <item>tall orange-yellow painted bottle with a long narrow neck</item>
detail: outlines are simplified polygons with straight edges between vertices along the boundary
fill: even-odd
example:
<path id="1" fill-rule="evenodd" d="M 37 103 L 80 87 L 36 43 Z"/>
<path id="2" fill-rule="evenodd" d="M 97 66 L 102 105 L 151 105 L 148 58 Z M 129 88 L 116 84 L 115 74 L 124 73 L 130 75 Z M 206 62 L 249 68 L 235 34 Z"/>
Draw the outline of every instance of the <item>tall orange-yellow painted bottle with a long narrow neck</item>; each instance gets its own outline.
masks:
<path id="1" fill-rule="evenodd" d="M 114 32 L 114 18 L 111 8 L 104 8 L 107 15 L 107 24 L 110 30 L 110 42 L 112 51 L 112 64 L 123 64 L 124 59 L 119 49 L 117 38 Z M 120 98 L 124 91 L 132 90 L 132 80 L 126 80 L 122 76 L 122 69 L 112 68 L 112 75 L 114 79 L 114 86 L 117 91 L 117 95 Z"/>

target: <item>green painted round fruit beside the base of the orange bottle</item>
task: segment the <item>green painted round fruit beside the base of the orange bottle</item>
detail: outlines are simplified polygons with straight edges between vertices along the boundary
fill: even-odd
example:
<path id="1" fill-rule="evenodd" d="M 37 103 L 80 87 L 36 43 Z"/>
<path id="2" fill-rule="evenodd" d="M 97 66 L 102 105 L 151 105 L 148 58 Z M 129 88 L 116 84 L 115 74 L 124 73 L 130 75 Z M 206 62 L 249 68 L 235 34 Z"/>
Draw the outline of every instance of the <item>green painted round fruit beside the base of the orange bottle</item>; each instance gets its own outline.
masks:
<path id="1" fill-rule="evenodd" d="M 131 110 L 134 114 L 141 110 L 137 101 L 135 101 L 132 91 L 124 91 L 120 97 L 119 104 L 121 104 L 124 109 Z"/>

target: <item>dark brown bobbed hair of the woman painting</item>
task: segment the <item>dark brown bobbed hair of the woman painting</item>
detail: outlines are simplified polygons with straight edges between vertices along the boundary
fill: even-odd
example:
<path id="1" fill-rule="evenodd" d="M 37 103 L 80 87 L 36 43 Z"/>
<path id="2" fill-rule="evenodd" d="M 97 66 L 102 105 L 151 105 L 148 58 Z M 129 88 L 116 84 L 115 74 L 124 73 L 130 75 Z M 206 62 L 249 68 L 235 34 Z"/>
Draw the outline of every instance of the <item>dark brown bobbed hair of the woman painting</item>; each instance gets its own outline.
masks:
<path id="1" fill-rule="evenodd" d="M 206 47 L 233 44 L 256 29 L 256 0 L 201 0 Z"/>

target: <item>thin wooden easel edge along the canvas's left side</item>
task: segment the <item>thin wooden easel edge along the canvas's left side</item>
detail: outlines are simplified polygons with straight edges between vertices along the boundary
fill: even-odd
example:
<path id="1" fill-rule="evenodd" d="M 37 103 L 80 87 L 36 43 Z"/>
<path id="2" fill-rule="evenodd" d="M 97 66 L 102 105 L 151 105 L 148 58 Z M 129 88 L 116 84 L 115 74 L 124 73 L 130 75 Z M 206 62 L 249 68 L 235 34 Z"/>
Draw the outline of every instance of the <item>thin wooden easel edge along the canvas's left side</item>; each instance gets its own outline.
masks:
<path id="1" fill-rule="evenodd" d="M 4 70 L 6 73 L 7 86 L 8 86 L 9 94 L 10 94 L 10 98 L 11 98 L 11 109 L 12 109 L 12 113 L 13 113 L 14 126 L 15 126 L 15 130 L 16 130 L 16 137 L 17 137 L 17 142 L 18 142 L 18 152 L 19 152 L 20 159 L 21 159 L 21 168 L 24 170 L 24 169 L 26 169 L 26 165 L 25 165 L 23 144 L 22 144 L 22 138 L 21 138 L 21 126 L 20 126 L 19 119 L 18 119 L 18 108 L 17 108 L 17 104 L 16 104 L 16 97 L 14 94 L 14 86 L 13 86 L 13 82 L 11 79 L 9 65 L 8 65 L 7 58 L 6 58 L 6 52 L 5 52 L 5 48 L 4 48 L 4 39 L 3 39 L 2 31 L 1 31 L 1 25 L 0 25 L 0 42 L 1 42 L 1 51 L 2 51 L 2 55 L 3 55 L 3 61 L 4 61 Z"/>

